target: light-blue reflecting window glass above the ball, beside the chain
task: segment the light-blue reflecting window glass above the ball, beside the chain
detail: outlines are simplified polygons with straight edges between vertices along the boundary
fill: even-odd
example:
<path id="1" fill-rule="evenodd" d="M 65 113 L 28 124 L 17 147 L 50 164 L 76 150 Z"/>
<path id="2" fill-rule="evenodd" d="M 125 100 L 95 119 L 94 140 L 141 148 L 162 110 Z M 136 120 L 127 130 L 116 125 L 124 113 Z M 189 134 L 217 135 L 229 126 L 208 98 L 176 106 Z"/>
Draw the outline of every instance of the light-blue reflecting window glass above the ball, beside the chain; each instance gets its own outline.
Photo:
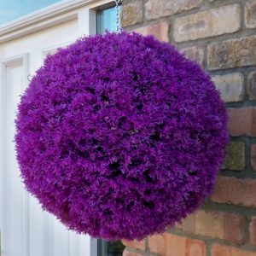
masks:
<path id="1" fill-rule="evenodd" d="M 121 6 L 120 6 L 120 11 L 121 11 Z M 97 34 L 104 33 L 106 29 L 109 32 L 117 31 L 116 13 L 115 13 L 114 6 L 97 12 Z"/>

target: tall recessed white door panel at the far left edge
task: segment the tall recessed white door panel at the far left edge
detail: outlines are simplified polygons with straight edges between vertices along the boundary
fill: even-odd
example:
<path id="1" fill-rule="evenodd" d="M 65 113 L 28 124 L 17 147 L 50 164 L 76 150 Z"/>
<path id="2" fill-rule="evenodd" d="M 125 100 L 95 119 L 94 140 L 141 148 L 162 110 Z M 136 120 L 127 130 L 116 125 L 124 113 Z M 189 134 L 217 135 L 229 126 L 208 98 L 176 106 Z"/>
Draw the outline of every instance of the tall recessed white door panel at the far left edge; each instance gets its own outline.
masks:
<path id="1" fill-rule="evenodd" d="M 23 60 L 17 58 L 3 66 L 3 255 L 26 255 L 28 239 L 27 195 L 20 182 L 18 166 L 15 161 L 15 108 L 23 85 Z M 20 218 L 19 218 L 20 216 Z M 21 236 L 23 234 L 23 236 Z"/>

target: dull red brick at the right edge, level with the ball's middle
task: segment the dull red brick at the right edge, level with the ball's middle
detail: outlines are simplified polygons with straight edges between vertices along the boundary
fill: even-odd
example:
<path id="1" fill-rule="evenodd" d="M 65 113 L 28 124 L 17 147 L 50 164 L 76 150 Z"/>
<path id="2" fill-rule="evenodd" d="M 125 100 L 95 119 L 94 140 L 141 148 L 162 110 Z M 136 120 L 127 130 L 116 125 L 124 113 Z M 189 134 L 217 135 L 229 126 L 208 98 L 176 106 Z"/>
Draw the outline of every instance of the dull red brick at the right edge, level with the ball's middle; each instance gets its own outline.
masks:
<path id="1" fill-rule="evenodd" d="M 256 108 L 229 108 L 231 136 L 256 137 Z"/>

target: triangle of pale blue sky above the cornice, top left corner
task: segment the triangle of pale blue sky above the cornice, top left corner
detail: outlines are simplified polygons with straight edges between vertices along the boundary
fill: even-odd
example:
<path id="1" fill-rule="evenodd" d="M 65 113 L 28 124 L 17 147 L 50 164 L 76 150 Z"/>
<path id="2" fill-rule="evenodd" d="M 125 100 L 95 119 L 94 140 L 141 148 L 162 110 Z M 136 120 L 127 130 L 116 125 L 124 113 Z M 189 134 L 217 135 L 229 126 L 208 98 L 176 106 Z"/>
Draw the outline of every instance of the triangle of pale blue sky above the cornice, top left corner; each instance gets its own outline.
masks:
<path id="1" fill-rule="evenodd" d="M 61 0 L 0 0 L 0 26 Z"/>

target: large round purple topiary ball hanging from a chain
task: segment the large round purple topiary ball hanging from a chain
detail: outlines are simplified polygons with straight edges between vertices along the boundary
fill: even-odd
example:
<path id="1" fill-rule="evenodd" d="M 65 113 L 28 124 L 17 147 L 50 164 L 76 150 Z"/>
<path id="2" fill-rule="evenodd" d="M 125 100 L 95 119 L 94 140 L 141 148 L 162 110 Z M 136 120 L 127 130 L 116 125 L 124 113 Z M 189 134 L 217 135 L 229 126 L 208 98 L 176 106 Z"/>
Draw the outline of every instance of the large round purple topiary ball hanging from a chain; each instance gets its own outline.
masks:
<path id="1" fill-rule="evenodd" d="M 137 33 L 80 38 L 49 55 L 22 96 L 26 189 L 71 230 L 142 239 L 212 192 L 228 142 L 210 77 Z"/>

